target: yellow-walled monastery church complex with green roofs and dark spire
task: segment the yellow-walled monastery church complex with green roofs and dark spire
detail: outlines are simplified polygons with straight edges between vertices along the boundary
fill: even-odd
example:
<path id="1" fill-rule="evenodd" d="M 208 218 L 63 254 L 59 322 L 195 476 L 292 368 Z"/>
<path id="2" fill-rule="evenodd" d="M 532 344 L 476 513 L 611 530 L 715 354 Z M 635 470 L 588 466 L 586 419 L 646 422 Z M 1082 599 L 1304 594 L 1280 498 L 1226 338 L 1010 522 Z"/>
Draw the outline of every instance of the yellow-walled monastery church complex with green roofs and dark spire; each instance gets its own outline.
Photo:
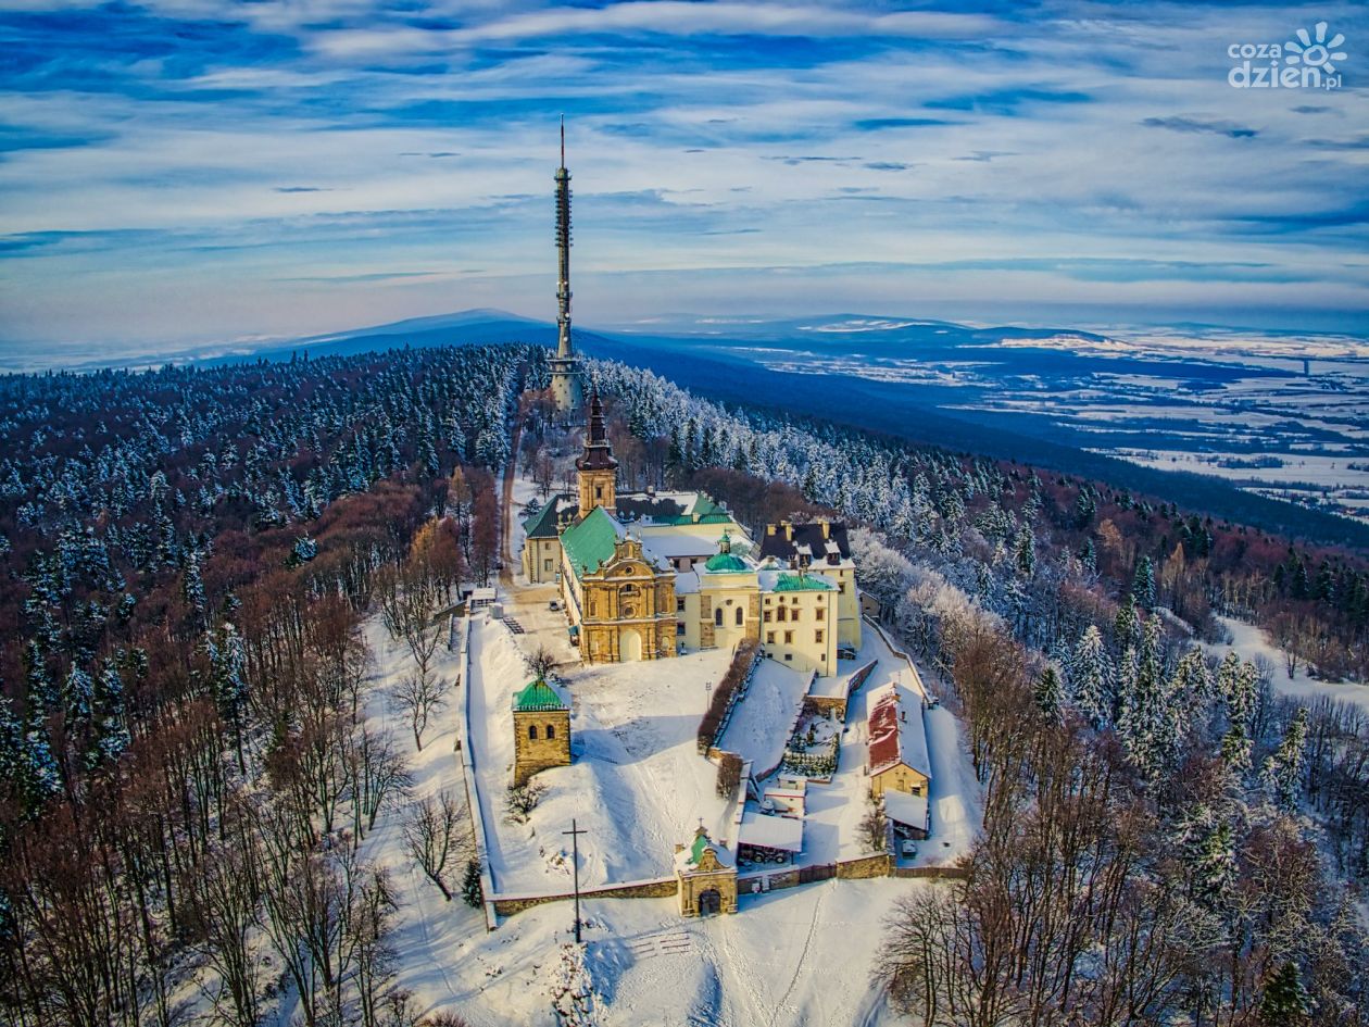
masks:
<path id="1" fill-rule="evenodd" d="M 836 672 L 860 646 L 856 572 L 839 523 L 767 527 L 757 553 L 702 492 L 617 489 L 598 393 L 590 398 L 576 492 L 524 522 L 523 572 L 559 582 L 586 663 L 658 660 L 761 642 L 798 671 Z"/>

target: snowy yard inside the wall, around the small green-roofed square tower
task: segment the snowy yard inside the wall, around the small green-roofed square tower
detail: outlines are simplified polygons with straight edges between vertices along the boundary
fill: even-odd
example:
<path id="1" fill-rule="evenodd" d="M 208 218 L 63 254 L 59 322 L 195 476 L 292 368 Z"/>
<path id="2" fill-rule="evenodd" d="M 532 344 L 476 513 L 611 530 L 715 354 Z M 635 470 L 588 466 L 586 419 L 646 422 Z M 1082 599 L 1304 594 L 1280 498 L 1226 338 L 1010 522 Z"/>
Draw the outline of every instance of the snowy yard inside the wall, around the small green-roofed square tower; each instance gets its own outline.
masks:
<path id="1" fill-rule="evenodd" d="M 570 838 L 561 831 L 572 819 L 587 831 L 579 842 L 582 887 L 667 876 L 675 845 L 693 837 L 700 817 L 721 831 L 727 802 L 694 735 L 708 702 L 704 686 L 721 678 L 727 661 L 727 652 L 711 650 L 668 664 L 564 668 L 574 763 L 534 778 L 545 794 L 528 822 L 515 824 L 504 811 L 513 767 L 509 709 L 530 675 L 504 623 L 471 622 L 471 746 L 500 894 L 570 890 Z"/>

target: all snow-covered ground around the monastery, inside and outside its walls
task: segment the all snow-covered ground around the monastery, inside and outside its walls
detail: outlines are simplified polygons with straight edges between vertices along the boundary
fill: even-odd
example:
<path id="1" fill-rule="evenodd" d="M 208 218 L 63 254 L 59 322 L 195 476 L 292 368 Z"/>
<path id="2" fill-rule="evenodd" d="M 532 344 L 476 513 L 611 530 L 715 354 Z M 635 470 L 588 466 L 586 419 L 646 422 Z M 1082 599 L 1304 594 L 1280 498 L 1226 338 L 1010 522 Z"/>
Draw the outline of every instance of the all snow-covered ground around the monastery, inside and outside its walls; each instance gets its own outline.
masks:
<path id="1" fill-rule="evenodd" d="M 527 592 L 522 594 L 527 596 Z M 531 620 L 537 608 L 505 596 L 512 612 Z M 537 604 L 545 609 L 541 598 Z M 538 616 L 541 616 L 538 613 Z M 556 615 L 548 612 L 548 638 L 557 637 Z M 366 627 L 375 671 L 368 709 L 375 723 L 396 733 L 409 757 L 415 796 L 439 789 L 461 790 L 453 756 L 459 693 L 413 750 L 407 726 L 389 708 L 387 690 L 411 670 L 402 645 L 390 641 L 378 619 Z M 694 733 L 708 701 L 705 682 L 717 682 L 728 653 L 694 653 L 669 663 L 622 664 L 563 670 L 572 697 L 575 765 L 543 771 L 538 781 L 548 793 L 528 826 L 502 820 L 501 800 L 509 779 L 512 730 L 508 723 L 512 690 L 527 679 L 520 646 L 537 637 L 515 635 L 507 626 L 478 618 L 471 637 L 472 672 L 461 687 L 471 689 L 471 719 L 485 723 L 483 739 L 472 737 L 486 816 L 498 846 L 496 886 L 500 891 L 561 891 L 570 867 L 561 830 L 571 817 L 589 834 L 580 839 L 582 883 L 652 878 L 669 872 L 676 841 L 686 839 L 702 816 L 717 828 L 730 826 L 726 801 L 715 794 L 715 768 L 698 756 Z M 561 650 L 570 655 L 568 646 Z M 862 660 L 880 665 L 861 689 L 910 678 L 875 631 L 867 633 Z M 435 657 L 438 672 L 453 681 L 457 657 L 445 648 Z M 795 675 L 797 676 L 797 675 Z M 864 698 L 852 704 L 852 733 L 864 733 Z M 927 713 L 932 750 L 934 811 L 950 800 L 967 811 L 965 824 L 977 815 L 977 786 L 968 767 L 956 722 L 945 709 Z M 787 734 L 789 724 L 776 731 Z M 854 826 L 865 811 L 864 742 L 843 753 L 842 770 L 831 786 L 809 789 L 813 861 L 864 854 Z M 487 798 L 486 798 L 487 796 Z M 568 902 L 554 902 L 501 920 L 486 933 L 479 911 L 460 898 L 444 902 L 437 890 L 409 865 L 402 852 L 402 807 L 382 815 L 363 854 L 390 868 L 400 900 L 394 935 L 398 985 L 413 993 L 423 1012 L 452 1009 L 475 1027 L 556 1023 L 552 993 L 561 974 L 563 945 L 571 939 Z M 949 819 L 934 812 L 934 830 Z M 927 859 L 949 861 L 968 844 L 961 831 L 950 849 L 924 845 Z M 939 835 L 938 835 L 939 837 Z M 842 842 L 849 838 L 849 842 Z M 935 842 L 935 838 L 934 838 Z M 934 852 L 935 849 L 935 852 Z M 457 875 L 459 876 L 459 875 Z M 923 880 L 828 880 L 753 896 L 743 889 L 737 916 L 684 920 L 674 898 L 596 900 L 583 902 L 586 969 L 598 996 L 597 1023 L 617 1024 L 787 1024 L 893 1023 L 872 983 L 883 922 L 901 896 L 932 887 Z M 827 968 L 841 968 L 835 976 Z"/>

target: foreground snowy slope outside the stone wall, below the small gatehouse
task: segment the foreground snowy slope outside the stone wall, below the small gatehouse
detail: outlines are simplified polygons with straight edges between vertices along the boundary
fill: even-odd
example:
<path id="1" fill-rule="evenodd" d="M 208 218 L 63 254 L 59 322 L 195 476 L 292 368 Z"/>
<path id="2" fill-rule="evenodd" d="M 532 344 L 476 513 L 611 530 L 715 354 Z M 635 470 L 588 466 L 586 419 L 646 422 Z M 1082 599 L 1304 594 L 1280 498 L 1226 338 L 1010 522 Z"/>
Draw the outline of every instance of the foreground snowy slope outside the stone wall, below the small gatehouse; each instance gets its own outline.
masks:
<path id="1" fill-rule="evenodd" d="M 601 1027 L 876 1027 L 883 922 L 921 880 L 828 880 L 741 897 L 737 916 L 683 920 L 672 898 L 586 900 L 586 969 Z M 475 1027 L 556 1024 L 549 986 L 571 908 L 542 905 L 442 954 L 444 1005 Z M 834 972 L 835 971 L 835 972 Z M 428 974 L 441 985 L 437 971 Z"/>

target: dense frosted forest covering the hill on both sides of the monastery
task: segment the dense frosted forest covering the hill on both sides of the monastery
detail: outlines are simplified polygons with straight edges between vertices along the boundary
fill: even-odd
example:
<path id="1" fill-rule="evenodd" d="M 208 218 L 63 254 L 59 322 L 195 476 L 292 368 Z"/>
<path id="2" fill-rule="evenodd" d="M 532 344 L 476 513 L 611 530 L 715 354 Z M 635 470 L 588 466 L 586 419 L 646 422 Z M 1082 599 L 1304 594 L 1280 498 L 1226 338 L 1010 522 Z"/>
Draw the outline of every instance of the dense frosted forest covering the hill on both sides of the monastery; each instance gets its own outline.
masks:
<path id="1" fill-rule="evenodd" d="M 888 924 L 901 1005 L 1365 1022 L 1369 724 L 1198 648 L 1247 619 L 1365 679 L 1358 556 L 591 371 L 628 483 L 860 526 L 862 587 L 962 716 L 986 833 Z M 490 579 L 491 472 L 549 490 L 574 456 L 545 385 L 524 346 L 0 379 L 0 1016 L 170 1027 L 200 975 L 234 1027 L 282 987 L 309 1027 L 418 1022 L 356 850 L 407 776 L 359 715 L 359 627 L 418 659 L 409 626 Z"/>

